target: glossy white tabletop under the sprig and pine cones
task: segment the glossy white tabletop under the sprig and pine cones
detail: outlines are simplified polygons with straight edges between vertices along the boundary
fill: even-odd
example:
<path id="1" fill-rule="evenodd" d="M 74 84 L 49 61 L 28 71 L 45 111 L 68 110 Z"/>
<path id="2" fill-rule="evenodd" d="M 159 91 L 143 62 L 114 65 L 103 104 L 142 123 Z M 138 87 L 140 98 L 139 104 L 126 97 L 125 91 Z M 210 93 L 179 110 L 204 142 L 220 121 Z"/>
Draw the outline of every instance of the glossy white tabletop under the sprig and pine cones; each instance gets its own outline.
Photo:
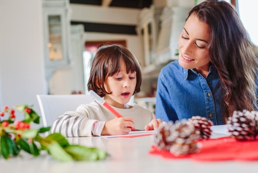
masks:
<path id="1" fill-rule="evenodd" d="M 212 138 L 225 135 L 213 133 Z M 72 144 L 88 147 L 98 147 L 106 150 L 110 157 L 104 161 L 73 161 L 61 162 L 54 160 L 46 153 L 33 157 L 22 152 L 18 157 L 7 161 L 0 158 L 1 172 L 112 172 L 112 173 L 138 173 L 138 172 L 258 172 L 258 161 L 216 161 L 198 162 L 189 159 L 165 159 L 158 155 L 150 155 L 148 151 L 153 144 L 152 136 L 134 138 L 102 137 L 73 137 L 67 138 Z"/>

